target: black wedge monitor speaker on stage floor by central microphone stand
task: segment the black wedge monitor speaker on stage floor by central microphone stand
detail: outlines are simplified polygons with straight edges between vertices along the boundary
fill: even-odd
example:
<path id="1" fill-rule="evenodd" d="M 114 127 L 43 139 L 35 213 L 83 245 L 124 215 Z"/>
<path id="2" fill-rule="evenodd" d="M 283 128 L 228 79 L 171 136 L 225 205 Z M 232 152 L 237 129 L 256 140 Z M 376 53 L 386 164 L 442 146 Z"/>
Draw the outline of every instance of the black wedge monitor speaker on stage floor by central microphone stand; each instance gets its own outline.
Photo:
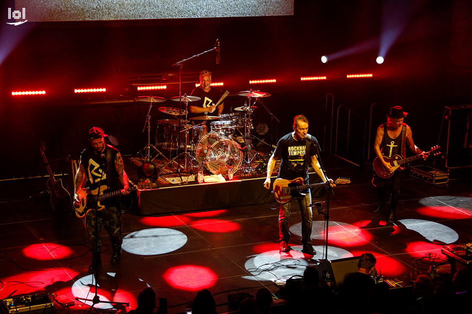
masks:
<path id="1" fill-rule="evenodd" d="M 318 266 L 316 266 L 316 269 L 318 270 L 319 276 L 323 279 L 329 272 L 330 277 L 334 282 L 332 288 L 335 290 L 341 286 L 344 278 L 346 278 L 348 274 L 357 272 L 359 269 L 357 267 L 358 262 L 358 256 L 333 261 L 322 261 Z"/>

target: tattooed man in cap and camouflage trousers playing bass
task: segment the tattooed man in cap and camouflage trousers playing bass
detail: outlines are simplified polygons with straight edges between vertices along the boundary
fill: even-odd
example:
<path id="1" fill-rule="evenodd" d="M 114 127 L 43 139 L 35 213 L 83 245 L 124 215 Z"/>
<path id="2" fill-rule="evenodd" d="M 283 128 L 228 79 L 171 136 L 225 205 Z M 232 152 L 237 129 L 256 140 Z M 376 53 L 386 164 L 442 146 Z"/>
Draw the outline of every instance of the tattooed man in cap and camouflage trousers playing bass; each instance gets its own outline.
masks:
<path id="1" fill-rule="evenodd" d="M 105 144 L 104 137 L 107 136 L 103 130 L 92 127 L 88 131 L 88 141 L 90 147 L 85 148 L 80 154 L 80 163 L 75 174 L 74 182 L 74 206 L 79 207 L 82 197 L 80 190 L 84 181 L 92 194 L 102 194 L 110 191 L 118 191 L 122 195 L 129 194 L 128 177 L 124 172 L 123 161 L 119 151 Z M 85 178 L 87 180 L 85 180 Z M 88 197 L 86 198 L 89 199 Z M 111 264 L 116 264 L 121 260 L 121 212 L 119 199 L 109 198 L 99 203 L 102 208 L 97 212 L 97 235 L 95 235 L 95 215 L 93 209 L 86 216 L 87 236 L 92 252 L 92 262 L 88 267 L 88 273 L 92 274 L 101 267 L 100 251 L 101 241 L 100 232 L 103 227 L 108 233 L 113 250 Z M 92 204 L 90 207 L 96 205 Z M 98 206 L 99 207 L 99 206 Z M 97 245 L 95 250 L 95 236 Z M 95 264 L 96 262 L 96 264 Z"/>

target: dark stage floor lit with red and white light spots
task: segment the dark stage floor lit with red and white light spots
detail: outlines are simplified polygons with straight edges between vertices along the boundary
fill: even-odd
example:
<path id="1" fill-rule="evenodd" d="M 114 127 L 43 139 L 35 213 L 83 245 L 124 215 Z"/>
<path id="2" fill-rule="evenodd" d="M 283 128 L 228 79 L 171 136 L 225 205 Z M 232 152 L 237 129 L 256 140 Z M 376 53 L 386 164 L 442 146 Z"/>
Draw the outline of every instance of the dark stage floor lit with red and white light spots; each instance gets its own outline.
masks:
<path id="1" fill-rule="evenodd" d="M 278 250 L 274 202 L 179 209 L 149 216 L 138 215 L 131 208 L 122 214 L 123 254 L 118 265 L 109 263 L 111 250 L 103 233 L 103 267 L 97 276 L 100 300 L 129 302 L 125 309 L 118 307 L 129 311 L 136 308 L 139 291 L 151 287 L 157 298 L 167 299 L 168 313 L 183 313 L 197 291 L 208 289 L 218 305 L 217 312 L 226 313 L 236 310 L 228 306 L 228 295 L 255 295 L 261 287 L 275 294 L 281 278 L 301 275 L 308 265 L 326 257 L 335 261 L 364 252 L 377 257 L 377 272 L 385 279 L 409 285 L 413 263 L 421 266 L 431 258 L 444 262 L 444 244 L 472 242 L 472 187 L 467 180 L 434 186 L 405 176 L 398 221 L 391 224 L 386 222 L 386 211 L 372 213 L 376 190 L 370 183 L 371 173 L 333 156 L 325 156 L 323 162 L 329 177 L 351 180 L 338 185 L 329 197 L 327 256 L 323 252 L 324 218 L 316 210 L 312 244 L 317 254 L 301 253 L 300 214 L 295 201 L 290 216 L 292 250 L 288 253 Z M 47 197 L 40 193 L 45 187 L 42 179 L 0 184 L 0 300 L 25 293 L 55 294 L 62 305 L 76 297 L 92 299 L 95 282 L 87 273 L 91 254 L 82 221 L 51 210 Z M 101 303 L 96 307 L 110 308 Z M 62 312 L 59 304 L 54 309 Z M 74 301 L 70 310 L 63 312 L 87 310 Z"/>

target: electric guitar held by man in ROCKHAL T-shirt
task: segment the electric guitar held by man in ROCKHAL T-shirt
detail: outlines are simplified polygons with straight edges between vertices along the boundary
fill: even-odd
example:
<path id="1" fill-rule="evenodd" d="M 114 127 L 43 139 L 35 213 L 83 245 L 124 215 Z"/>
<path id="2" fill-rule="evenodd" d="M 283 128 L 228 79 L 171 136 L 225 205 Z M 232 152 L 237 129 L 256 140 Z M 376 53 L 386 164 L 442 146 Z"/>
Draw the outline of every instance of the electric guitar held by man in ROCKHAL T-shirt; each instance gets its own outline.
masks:
<path id="1" fill-rule="evenodd" d="M 339 178 L 333 182 L 334 184 L 347 184 L 350 183 L 349 179 L 342 179 Z M 315 188 L 318 186 L 326 185 L 326 182 L 321 183 L 314 183 L 314 184 L 307 184 L 303 185 L 303 178 L 298 177 L 293 180 L 285 180 L 285 179 L 276 179 L 273 182 L 273 196 L 275 200 L 279 203 L 286 203 L 290 201 L 292 198 L 303 198 L 305 194 L 300 193 L 301 190 L 307 190 L 311 188 Z"/>

